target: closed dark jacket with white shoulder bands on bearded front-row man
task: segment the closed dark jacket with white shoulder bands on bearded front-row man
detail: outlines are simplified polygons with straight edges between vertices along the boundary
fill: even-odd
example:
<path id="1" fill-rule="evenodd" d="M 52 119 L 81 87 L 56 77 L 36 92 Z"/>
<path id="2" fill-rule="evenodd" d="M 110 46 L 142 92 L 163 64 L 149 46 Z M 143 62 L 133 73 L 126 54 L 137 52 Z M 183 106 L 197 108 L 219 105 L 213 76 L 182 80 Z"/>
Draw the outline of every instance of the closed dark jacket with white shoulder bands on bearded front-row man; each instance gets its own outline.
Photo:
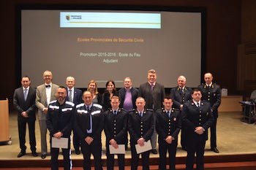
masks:
<path id="1" fill-rule="evenodd" d="M 63 137 L 71 135 L 73 117 L 75 112 L 75 104 L 65 101 L 59 105 L 58 101 L 51 101 L 47 113 L 47 128 L 50 131 L 50 136 L 61 131 Z"/>

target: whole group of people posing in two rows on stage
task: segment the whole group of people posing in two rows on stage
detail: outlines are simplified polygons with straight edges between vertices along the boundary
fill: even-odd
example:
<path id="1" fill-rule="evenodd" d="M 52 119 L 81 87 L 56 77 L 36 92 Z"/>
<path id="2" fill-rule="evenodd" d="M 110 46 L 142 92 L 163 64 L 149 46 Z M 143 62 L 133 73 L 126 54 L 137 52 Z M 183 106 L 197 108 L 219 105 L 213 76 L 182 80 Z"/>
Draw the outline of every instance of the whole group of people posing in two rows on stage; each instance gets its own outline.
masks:
<path id="1" fill-rule="evenodd" d="M 211 73 L 204 75 L 205 83 L 198 88 L 186 86 L 186 78 L 178 77 L 178 86 L 165 96 L 165 88 L 157 80 L 154 69 L 148 71 L 148 82 L 139 89 L 132 87 L 129 77 L 124 79 L 124 88 L 116 90 L 115 82 L 106 83 L 105 93 L 97 91 L 97 83 L 89 82 L 86 91 L 75 88 L 75 78 L 67 77 L 67 87 L 55 85 L 50 71 L 43 73 L 44 83 L 37 89 L 30 87 L 31 80 L 24 76 L 22 87 L 15 90 L 13 104 L 18 110 L 20 153 L 26 155 L 26 123 L 29 124 L 29 143 L 33 156 L 37 156 L 34 134 L 37 110 L 41 133 L 41 158 L 47 156 L 47 129 L 50 145 L 53 138 L 68 138 L 67 149 L 62 148 L 64 169 L 71 169 L 70 136 L 73 131 L 75 153 L 83 153 L 83 169 L 91 169 L 91 154 L 95 169 L 102 169 L 102 131 L 106 136 L 108 170 L 113 170 L 114 155 L 111 147 L 127 146 L 127 131 L 132 153 L 131 169 L 138 169 L 140 154 L 135 145 L 143 146 L 151 141 L 152 150 L 142 152 L 143 170 L 149 169 L 149 154 L 157 154 L 159 144 L 159 169 L 166 169 L 166 154 L 169 152 L 169 168 L 175 169 L 178 133 L 181 130 L 181 146 L 187 150 L 187 169 L 203 169 L 203 155 L 208 128 L 211 128 L 211 150 L 219 152 L 216 144 L 218 107 L 221 102 L 219 85 L 212 82 Z M 51 168 L 59 169 L 59 148 L 50 147 Z M 119 169 L 124 170 L 124 154 L 118 154 Z"/>

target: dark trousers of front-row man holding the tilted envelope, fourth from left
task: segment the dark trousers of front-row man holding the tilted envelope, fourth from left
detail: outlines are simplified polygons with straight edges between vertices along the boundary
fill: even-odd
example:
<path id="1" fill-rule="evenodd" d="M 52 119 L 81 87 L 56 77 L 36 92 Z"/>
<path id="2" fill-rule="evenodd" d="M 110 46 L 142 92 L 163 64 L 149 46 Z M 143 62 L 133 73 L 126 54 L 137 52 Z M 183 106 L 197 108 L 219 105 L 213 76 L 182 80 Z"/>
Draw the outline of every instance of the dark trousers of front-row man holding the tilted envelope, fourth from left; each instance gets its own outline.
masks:
<path id="1" fill-rule="evenodd" d="M 136 149 L 135 149 L 135 144 L 131 144 L 131 151 L 132 151 L 131 170 L 137 170 L 140 154 L 137 154 Z M 149 170 L 149 163 L 148 163 L 149 153 L 150 153 L 150 151 L 141 153 L 143 170 Z"/>

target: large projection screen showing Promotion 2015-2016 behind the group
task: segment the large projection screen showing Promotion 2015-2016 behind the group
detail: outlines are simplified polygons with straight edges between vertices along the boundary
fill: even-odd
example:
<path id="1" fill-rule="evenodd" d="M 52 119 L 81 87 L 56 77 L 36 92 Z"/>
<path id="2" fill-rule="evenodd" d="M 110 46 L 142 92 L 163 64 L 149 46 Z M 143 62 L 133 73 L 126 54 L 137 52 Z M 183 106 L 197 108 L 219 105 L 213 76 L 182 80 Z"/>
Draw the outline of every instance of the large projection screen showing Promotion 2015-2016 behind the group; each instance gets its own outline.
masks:
<path id="1" fill-rule="evenodd" d="M 202 13 L 124 10 L 21 9 L 21 71 L 33 86 L 50 70 L 53 82 L 75 77 L 77 88 L 96 80 L 116 88 L 131 77 L 138 88 L 149 69 L 157 82 L 172 88 L 178 75 L 189 87 L 202 73 Z"/>

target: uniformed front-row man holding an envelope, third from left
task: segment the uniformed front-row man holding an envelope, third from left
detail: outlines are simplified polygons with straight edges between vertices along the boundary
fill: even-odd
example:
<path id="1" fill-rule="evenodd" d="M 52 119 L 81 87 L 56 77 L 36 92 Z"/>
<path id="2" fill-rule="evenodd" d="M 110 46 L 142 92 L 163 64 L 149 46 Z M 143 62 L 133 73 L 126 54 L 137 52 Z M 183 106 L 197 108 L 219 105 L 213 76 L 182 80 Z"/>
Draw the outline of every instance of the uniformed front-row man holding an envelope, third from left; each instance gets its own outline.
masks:
<path id="1" fill-rule="evenodd" d="M 111 109 L 105 114 L 105 135 L 107 148 L 107 168 L 113 170 L 114 155 L 110 154 L 109 145 L 118 148 L 118 144 L 125 144 L 127 141 L 127 122 L 128 113 L 119 108 L 120 101 L 118 96 L 113 96 L 110 101 Z M 124 154 L 118 154 L 119 170 L 124 170 Z"/>

